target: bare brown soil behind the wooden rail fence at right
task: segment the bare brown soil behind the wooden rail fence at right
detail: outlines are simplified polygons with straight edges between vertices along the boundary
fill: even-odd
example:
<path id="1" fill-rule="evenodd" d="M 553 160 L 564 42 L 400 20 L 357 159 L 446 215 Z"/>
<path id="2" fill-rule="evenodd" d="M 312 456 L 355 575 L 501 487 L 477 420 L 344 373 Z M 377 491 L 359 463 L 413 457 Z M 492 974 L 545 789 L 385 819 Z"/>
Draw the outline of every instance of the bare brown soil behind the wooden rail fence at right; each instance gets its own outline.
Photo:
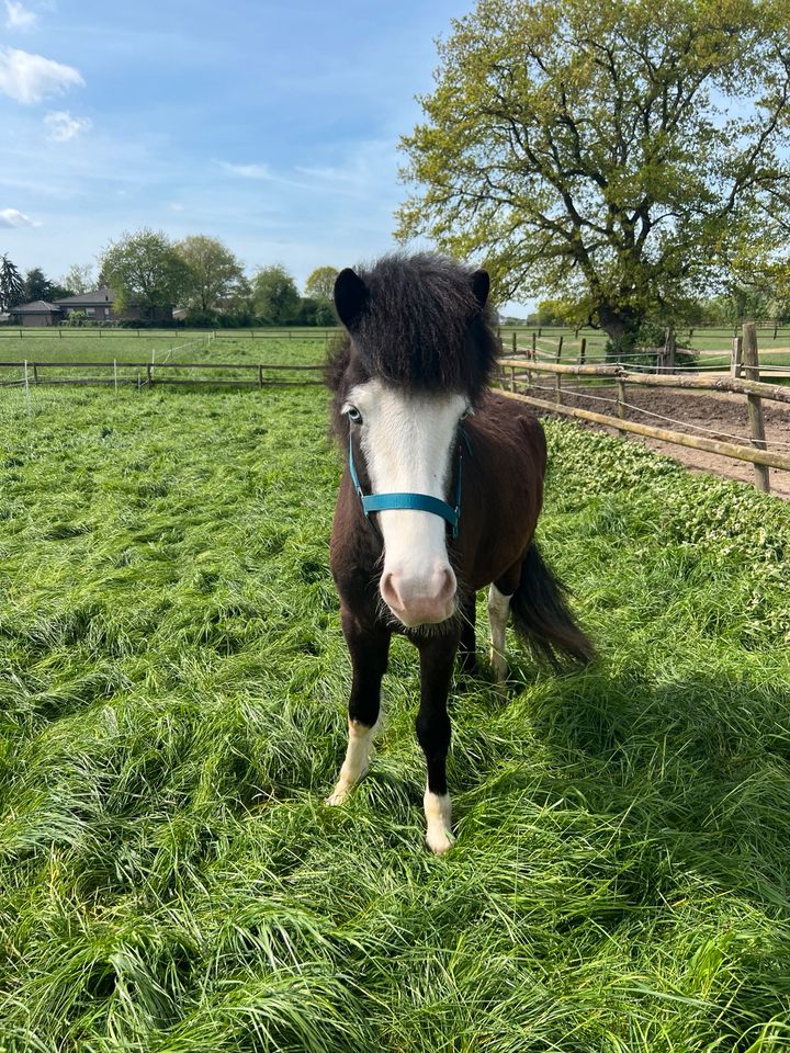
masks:
<path id="1" fill-rule="evenodd" d="M 575 405 L 583 409 L 592 409 L 599 414 L 614 415 L 613 388 L 596 388 L 595 392 L 589 393 L 597 396 L 595 401 L 586 398 L 575 399 L 569 386 L 567 388 L 563 387 L 563 399 L 568 406 Z M 541 397 L 552 398 L 553 394 L 546 392 L 541 394 Z M 598 401 L 598 397 L 611 400 L 611 406 Z M 749 442 L 746 399 L 743 395 L 708 392 L 687 394 L 686 392 L 665 392 L 659 388 L 629 387 L 627 399 L 630 406 L 639 407 L 628 410 L 630 420 L 654 424 L 658 428 L 668 428 L 672 431 L 686 431 L 693 435 L 704 435 L 709 439 L 722 439 L 746 444 Z M 647 410 L 648 412 L 641 412 L 640 410 Z M 790 405 L 764 399 L 763 412 L 768 449 L 790 453 Z M 668 417 L 670 421 L 657 420 L 648 414 Z M 567 420 L 568 418 L 563 419 Z M 707 430 L 700 431 L 692 426 L 699 426 Z M 586 427 L 596 428 L 598 426 L 587 424 Z M 613 429 L 605 428 L 603 430 L 617 434 Z M 712 475 L 741 479 L 754 485 L 754 466 L 745 461 L 732 461 L 730 457 L 707 453 L 703 450 L 691 450 L 688 446 L 677 446 L 674 443 L 658 442 L 654 439 L 642 439 L 639 435 L 629 435 L 629 441 L 642 442 L 651 450 L 674 457 L 685 464 L 691 472 L 708 472 Z M 790 472 L 779 468 L 770 468 L 769 472 L 771 494 L 790 500 Z"/>

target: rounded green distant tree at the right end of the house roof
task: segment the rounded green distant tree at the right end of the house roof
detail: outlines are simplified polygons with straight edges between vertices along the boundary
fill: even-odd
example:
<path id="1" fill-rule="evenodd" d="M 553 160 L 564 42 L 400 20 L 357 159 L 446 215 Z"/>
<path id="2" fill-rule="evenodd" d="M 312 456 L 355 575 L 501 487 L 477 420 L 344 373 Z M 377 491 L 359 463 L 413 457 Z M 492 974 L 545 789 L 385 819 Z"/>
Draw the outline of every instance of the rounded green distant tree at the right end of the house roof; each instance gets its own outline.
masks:
<path id="1" fill-rule="evenodd" d="M 173 242 L 148 227 L 111 241 L 101 254 L 101 273 L 117 297 L 116 309 L 135 304 L 148 318 L 181 303 L 194 282 Z"/>

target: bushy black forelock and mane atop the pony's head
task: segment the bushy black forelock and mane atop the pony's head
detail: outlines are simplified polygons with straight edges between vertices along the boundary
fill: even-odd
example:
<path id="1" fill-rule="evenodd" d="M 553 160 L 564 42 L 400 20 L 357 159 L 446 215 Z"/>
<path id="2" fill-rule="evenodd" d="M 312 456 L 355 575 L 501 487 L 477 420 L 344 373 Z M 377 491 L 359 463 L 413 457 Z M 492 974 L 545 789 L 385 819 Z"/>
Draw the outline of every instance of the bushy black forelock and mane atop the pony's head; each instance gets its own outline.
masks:
<path id="1" fill-rule="evenodd" d="M 481 309 L 472 268 L 421 252 L 393 253 L 357 270 L 368 299 L 352 331 L 329 354 L 327 384 L 338 394 L 349 365 L 360 376 L 415 390 L 456 390 L 478 401 L 499 344 L 490 309 Z M 357 380 L 357 377 L 356 377 Z"/>

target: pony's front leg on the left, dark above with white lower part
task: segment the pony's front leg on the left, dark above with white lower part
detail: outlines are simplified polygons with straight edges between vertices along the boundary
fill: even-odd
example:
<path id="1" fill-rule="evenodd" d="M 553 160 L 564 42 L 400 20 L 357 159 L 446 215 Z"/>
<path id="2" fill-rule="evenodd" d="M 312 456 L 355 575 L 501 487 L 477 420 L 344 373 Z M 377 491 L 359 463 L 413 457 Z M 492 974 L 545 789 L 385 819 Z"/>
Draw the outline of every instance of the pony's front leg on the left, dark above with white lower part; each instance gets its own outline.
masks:
<path id="1" fill-rule="evenodd" d="M 349 741 L 337 784 L 327 804 L 342 804 L 349 791 L 368 770 L 373 732 L 379 720 L 381 682 L 386 672 L 391 634 L 363 627 L 343 612 L 343 634 L 351 655 L 351 695 L 348 707 Z"/>

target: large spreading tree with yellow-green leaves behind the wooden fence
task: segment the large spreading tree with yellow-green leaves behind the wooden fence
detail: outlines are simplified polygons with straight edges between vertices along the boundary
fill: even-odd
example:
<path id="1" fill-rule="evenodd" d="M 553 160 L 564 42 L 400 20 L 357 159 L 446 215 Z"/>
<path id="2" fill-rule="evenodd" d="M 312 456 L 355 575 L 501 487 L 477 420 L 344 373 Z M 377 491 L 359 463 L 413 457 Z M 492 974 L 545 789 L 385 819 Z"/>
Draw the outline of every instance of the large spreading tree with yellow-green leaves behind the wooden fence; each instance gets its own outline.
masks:
<path id="1" fill-rule="evenodd" d="M 397 235 L 483 257 L 499 299 L 628 342 L 787 241 L 787 0 L 479 0 L 439 54 Z"/>

